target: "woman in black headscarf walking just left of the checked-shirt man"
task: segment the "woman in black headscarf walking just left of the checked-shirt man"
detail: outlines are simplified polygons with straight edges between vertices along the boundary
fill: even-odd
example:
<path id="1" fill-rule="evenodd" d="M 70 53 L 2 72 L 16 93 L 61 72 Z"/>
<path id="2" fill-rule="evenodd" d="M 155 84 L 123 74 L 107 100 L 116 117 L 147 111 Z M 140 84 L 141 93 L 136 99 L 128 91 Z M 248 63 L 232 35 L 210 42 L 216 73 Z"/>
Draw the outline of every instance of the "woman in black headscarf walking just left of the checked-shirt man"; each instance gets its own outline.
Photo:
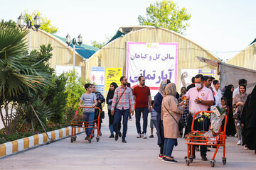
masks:
<path id="1" fill-rule="evenodd" d="M 115 82 L 112 82 L 110 84 L 110 89 L 107 93 L 107 113 L 109 115 L 109 128 L 110 128 L 110 138 L 114 137 L 114 128 L 113 128 L 113 122 L 114 122 L 114 115 L 111 115 L 111 106 L 112 106 L 112 99 L 114 98 L 114 90 L 117 89 L 117 84 Z M 119 128 L 121 127 L 121 123 L 119 125 Z M 120 129 L 119 129 L 120 131 Z"/>

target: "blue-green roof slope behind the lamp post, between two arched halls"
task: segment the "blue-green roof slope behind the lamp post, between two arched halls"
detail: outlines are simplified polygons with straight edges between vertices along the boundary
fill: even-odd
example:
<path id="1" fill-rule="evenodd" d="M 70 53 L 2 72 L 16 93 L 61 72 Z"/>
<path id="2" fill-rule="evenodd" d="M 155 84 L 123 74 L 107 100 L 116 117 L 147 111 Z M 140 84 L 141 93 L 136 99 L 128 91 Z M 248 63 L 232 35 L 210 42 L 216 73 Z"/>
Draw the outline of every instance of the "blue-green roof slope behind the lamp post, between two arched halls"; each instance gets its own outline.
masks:
<path id="1" fill-rule="evenodd" d="M 65 42 L 65 38 L 54 34 L 52 35 Z M 73 45 L 71 45 L 71 47 L 73 47 Z M 75 45 L 75 51 L 78 52 L 78 54 L 85 59 L 90 58 L 95 52 L 97 52 L 97 50 L 99 50 L 97 47 L 92 47 L 90 45 L 81 44 L 81 47 Z"/>

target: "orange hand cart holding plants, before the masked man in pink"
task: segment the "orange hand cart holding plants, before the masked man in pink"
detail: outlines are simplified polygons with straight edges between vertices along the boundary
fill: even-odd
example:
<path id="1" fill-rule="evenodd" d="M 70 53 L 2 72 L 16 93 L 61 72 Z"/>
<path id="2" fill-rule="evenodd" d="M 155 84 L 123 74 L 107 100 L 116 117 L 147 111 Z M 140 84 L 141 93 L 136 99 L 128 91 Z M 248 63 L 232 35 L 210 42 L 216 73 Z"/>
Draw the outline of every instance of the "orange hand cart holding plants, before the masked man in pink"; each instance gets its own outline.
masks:
<path id="1" fill-rule="evenodd" d="M 212 167 L 215 166 L 215 156 L 218 152 L 219 147 L 223 147 L 223 164 L 226 164 L 227 159 L 225 157 L 225 129 L 227 125 L 227 120 L 228 117 L 225 115 L 225 125 L 224 125 L 224 130 L 219 132 L 217 135 L 214 137 L 206 137 L 206 136 L 201 136 L 205 132 L 203 131 L 196 131 L 193 130 L 193 125 L 194 121 L 196 118 L 196 115 L 199 113 L 212 113 L 212 111 L 199 111 L 193 116 L 193 121 L 191 125 L 191 132 L 186 135 L 186 145 L 187 145 L 187 157 L 186 157 L 186 164 L 189 166 L 190 163 L 193 162 L 193 145 L 206 145 L 206 146 L 215 146 L 215 152 L 213 154 L 213 159 L 210 160 L 210 165 Z M 197 134 L 197 135 L 196 135 Z M 198 136 L 199 135 L 199 136 Z M 190 155 L 189 155 L 189 149 L 190 149 Z"/>

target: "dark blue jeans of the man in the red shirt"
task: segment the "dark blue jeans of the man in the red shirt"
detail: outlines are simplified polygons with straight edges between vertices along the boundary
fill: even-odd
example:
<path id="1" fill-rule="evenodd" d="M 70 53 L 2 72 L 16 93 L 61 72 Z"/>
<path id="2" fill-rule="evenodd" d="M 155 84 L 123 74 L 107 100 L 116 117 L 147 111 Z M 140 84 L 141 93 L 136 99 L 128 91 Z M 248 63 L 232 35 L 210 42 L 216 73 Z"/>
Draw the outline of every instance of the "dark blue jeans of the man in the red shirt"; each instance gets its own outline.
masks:
<path id="1" fill-rule="evenodd" d="M 143 115 L 143 132 L 140 126 L 140 118 Z M 149 108 L 135 108 L 136 128 L 137 133 L 145 133 L 147 127 L 147 119 L 149 115 Z"/>

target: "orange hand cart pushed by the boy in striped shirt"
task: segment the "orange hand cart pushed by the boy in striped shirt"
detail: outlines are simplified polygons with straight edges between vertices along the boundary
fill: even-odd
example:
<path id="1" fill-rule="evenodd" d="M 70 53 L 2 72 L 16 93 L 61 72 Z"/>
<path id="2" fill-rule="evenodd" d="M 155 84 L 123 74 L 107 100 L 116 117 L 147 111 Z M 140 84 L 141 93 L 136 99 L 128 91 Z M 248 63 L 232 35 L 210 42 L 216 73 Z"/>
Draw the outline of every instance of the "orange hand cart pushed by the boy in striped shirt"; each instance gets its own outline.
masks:
<path id="1" fill-rule="evenodd" d="M 89 121 L 83 121 L 83 115 L 79 114 L 79 109 L 80 108 L 96 108 L 99 110 L 99 115 L 98 118 L 89 122 Z M 82 120 L 80 120 L 82 119 Z M 99 142 L 100 140 L 100 136 L 99 136 L 99 132 L 100 132 L 100 108 L 97 107 L 88 107 L 88 106 L 84 106 L 84 107 L 79 107 L 76 112 L 75 112 L 75 118 L 71 121 L 70 123 L 71 125 L 71 142 L 74 142 L 77 138 L 76 136 L 76 128 L 83 128 L 84 130 L 87 128 L 92 128 L 92 132 L 90 134 L 90 137 L 88 137 L 88 142 L 92 142 L 92 135 L 95 129 L 97 129 L 97 137 L 96 137 L 96 141 Z M 84 127 L 82 127 L 84 125 Z"/>

